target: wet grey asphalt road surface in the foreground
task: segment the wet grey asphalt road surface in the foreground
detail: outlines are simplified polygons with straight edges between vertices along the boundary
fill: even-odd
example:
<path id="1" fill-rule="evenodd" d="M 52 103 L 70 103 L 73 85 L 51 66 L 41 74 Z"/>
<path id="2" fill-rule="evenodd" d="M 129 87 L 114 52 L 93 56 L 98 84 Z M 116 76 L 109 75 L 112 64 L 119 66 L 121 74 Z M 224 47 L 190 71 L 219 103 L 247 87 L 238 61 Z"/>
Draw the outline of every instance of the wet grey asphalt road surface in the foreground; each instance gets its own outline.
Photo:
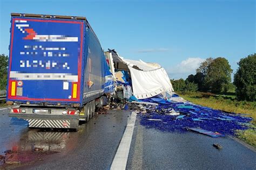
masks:
<path id="1" fill-rule="evenodd" d="M 131 115 L 111 110 L 69 132 L 11 125 L 7 113 L 0 110 L 0 154 L 11 150 L 9 161 L 21 164 L 2 167 L 19 169 L 110 169 Z M 254 151 L 231 138 L 146 129 L 137 117 L 126 169 L 255 169 L 255 160 Z"/>

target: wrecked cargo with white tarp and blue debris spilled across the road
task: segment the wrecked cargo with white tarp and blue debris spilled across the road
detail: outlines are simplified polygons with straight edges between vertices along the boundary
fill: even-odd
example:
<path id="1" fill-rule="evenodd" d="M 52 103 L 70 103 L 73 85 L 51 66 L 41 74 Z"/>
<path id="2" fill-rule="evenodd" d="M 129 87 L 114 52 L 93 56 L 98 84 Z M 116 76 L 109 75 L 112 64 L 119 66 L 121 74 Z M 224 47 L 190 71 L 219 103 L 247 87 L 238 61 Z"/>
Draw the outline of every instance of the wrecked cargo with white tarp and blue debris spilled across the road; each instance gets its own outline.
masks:
<path id="1" fill-rule="evenodd" d="M 137 112 L 140 124 L 147 128 L 191 130 L 211 137 L 235 136 L 236 130 L 250 128 L 250 117 L 196 105 L 178 96 L 165 69 L 157 63 L 124 59 L 114 49 L 105 55 L 118 89 L 116 97 L 144 105 Z"/>

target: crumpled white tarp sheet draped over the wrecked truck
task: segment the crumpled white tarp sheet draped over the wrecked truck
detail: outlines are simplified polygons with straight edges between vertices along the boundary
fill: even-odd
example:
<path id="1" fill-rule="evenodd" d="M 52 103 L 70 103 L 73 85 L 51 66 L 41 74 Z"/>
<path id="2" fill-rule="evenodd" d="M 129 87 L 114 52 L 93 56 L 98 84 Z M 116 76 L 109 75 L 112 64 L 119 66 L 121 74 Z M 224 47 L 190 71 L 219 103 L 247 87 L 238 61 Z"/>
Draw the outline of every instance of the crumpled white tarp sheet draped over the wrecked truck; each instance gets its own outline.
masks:
<path id="1" fill-rule="evenodd" d="M 169 93 L 174 91 L 165 69 L 157 63 L 124 59 L 118 54 L 113 54 L 112 58 L 113 61 L 123 62 L 128 66 L 131 72 L 133 95 L 136 98 L 149 98 L 165 91 Z"/>

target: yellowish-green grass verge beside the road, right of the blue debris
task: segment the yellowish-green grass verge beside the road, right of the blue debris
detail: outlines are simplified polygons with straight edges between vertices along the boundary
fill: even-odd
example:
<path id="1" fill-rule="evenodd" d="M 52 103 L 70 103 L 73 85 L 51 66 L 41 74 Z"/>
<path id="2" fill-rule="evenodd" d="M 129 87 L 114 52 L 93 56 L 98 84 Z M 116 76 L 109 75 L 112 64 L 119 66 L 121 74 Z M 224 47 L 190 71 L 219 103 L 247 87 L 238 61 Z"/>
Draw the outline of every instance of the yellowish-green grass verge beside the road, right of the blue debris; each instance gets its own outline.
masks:
<path id="1" fill-rule="evenodd" d="M 215 95 L 212 93 L 182 91 L 177 94 L 194 104 L 237 114 L 246 114 L 245 116 L 252 117 L 252 129 L 237 131 L 237 136 L 246 141 L 246 143 L 256 147 L 256 102 L 237 101 L 232 93 Z"/>

